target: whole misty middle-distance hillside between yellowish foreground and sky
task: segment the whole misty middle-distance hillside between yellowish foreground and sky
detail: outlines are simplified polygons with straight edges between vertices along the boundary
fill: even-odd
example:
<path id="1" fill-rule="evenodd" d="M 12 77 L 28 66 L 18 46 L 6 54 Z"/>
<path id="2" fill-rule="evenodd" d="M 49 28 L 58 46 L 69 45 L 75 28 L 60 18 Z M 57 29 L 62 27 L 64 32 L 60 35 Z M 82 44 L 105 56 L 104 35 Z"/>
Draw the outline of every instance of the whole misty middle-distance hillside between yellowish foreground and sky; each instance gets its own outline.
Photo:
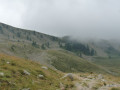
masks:
<path id="1" fill-rule="evenodd" d="M 116 67 L 111 69 L 107 65 L 103 66 L 104 60 L 102 63 L 96 63 L 99 57 L 108 59 L 116 55 L 119 57 L 119 50 L 114 44 L 84 43 L 69 37 L 58 38 L 3 23 L 0 24 L 0 52 L 38 61 L 63 72 L 96 72 L 113 75 L 120 73 L 119 70 L 115 70 Z M 117 63 L 120 65 L 119 60 Z"/>

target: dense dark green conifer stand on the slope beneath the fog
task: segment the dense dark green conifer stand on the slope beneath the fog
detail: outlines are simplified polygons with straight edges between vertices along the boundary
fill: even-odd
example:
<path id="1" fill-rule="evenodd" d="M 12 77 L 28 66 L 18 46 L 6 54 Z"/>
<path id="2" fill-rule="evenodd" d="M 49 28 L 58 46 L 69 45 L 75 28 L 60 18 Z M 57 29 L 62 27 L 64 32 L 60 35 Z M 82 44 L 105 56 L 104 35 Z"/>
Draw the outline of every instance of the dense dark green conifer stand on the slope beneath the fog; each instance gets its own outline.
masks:
<path id="1" fill-rule="evenodd" d="M 86 56 L 96 55 L 96 51 L 92 47 L 89 47 L 87 43 L 83 44 L 80 41 L 71 39 L 69 36 L 63 37 L 62 40 L 65 43 L 64 45 L 60 44 L 62 48 L 74 52 L 80 57 L 82 57 L 82 54 Z"/>

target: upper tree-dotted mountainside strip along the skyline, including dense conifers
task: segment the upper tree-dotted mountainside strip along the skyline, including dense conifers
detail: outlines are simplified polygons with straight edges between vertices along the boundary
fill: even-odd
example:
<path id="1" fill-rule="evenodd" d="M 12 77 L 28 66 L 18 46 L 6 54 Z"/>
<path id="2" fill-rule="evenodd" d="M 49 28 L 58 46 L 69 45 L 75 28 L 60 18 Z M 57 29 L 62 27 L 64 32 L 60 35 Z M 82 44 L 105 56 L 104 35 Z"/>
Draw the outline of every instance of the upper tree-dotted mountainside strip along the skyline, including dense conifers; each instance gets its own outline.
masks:
<path id="1" fill-rule="evenodd" d="M 113 45 L 109 44 L 109 41 L 91 42 L 92 44 L 82 43 L 71 40 L 69 37 L 58 38 L 36 31 L 15 28 L 3 23 L 0 23 L 0 38 L 0 41 L 25 42 L 42 49 L 62 48 L 79 56 L 82 54 L 87 56 L 99 55 L 99 50 L 97 51 L 97 49 L 102 49 L 103 53 L 107 54 L 120 53 Z"/>

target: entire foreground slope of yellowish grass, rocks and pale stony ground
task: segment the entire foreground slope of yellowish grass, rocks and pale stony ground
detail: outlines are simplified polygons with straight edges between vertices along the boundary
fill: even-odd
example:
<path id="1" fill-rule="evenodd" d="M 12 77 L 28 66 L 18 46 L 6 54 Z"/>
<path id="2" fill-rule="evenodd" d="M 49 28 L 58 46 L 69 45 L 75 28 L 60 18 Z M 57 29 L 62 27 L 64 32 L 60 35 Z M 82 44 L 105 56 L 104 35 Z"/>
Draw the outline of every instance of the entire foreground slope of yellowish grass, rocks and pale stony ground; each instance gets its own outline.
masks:
<path id="1" fill-rule="evenodd" d="M 62 73 L 0 53 L 0 90 L 119 90 L 119 80 L 97 73 Z"/>

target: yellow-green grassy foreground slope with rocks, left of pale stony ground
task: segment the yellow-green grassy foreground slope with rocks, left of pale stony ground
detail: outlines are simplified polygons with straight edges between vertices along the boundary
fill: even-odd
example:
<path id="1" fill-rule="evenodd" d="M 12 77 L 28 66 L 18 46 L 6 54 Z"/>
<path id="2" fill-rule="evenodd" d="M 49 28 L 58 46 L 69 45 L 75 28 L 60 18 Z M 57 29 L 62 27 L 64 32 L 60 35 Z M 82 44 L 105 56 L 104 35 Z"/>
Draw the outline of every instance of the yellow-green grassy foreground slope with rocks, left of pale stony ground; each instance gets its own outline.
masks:
<path id="1" fill-rule="evenodd" d="M 69 88 L 72 82 L 62 76 L 39 63 L 0 53 L 0 90 L 56 90 L 60 83 Z"/>

